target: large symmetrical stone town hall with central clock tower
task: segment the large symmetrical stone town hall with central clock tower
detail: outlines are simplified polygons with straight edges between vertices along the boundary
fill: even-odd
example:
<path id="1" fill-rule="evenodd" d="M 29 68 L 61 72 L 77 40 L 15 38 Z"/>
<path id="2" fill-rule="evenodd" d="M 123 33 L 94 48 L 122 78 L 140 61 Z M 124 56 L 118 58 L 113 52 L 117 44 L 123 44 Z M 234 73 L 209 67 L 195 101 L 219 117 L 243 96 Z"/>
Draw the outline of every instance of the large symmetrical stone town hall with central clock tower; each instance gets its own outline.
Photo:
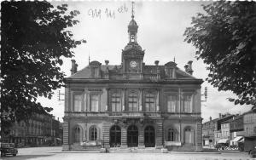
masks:
<path id="1" fill-rule="evenodd" d="M 90 147 L 155 147 L 168 151 L 201 151 L 201 79 L 175 61 L 153 66 L 137 43 L 134 15 L 121 64 L 91 61 L 67 77 L 63 151 Z"/>

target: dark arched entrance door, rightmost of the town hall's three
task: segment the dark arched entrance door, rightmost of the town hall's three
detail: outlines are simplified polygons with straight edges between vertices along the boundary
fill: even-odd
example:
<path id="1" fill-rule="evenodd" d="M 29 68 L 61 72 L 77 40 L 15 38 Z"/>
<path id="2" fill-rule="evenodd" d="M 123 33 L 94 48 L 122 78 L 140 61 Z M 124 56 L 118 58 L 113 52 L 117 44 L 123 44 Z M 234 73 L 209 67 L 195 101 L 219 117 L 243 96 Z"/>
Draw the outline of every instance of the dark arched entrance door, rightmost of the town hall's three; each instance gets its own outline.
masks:
<path id="1" fill-rule="evenodd" d="M 145 147 L 155 146 L 154 127 L 148 126 L 144 132 L 144 143 Z"/>

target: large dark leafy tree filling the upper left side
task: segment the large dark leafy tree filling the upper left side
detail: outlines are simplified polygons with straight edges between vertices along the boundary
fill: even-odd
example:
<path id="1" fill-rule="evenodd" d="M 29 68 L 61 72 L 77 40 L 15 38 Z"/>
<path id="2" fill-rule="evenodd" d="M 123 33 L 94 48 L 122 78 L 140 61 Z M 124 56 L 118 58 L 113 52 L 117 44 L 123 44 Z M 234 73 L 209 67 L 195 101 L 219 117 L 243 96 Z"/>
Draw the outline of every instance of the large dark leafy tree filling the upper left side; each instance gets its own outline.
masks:
<path id="1" fill-rule="evenodd" d="M 1 118 L 2 129 L 14 121 L 45 113 L 51 107 L 37 102 L 51 98 L 64 86 L 63 58 L 84 40 L 74 40 L 68 27 L 79 11 L 67 13 L 67 4 L 55 9 L 48 2 L 2 2 L 1 7 Z"/>

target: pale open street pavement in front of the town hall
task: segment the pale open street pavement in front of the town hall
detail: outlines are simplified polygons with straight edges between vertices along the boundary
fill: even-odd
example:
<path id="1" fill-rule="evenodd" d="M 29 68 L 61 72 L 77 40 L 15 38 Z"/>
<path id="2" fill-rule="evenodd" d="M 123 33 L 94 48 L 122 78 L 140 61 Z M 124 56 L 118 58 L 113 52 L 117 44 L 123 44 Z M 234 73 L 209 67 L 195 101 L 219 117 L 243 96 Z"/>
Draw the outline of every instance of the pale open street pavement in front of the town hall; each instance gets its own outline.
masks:
<path id="1" fill-rule="evenodd" d="M 169 153 L 97 153 L 84 151 L 61 151 L 61 146 L 19 148 L 16 157 L 8 156 L 2 159 L 11 160 L 73 160 L 73 159 L 108 159 L 108 160 L 163 160 L 163 159 L 207 159 L 207 160 L 244 160 L 253 159 L 246 152 L 169 152 Z M 256 159 L 256 158 L 254 158 Z"/>

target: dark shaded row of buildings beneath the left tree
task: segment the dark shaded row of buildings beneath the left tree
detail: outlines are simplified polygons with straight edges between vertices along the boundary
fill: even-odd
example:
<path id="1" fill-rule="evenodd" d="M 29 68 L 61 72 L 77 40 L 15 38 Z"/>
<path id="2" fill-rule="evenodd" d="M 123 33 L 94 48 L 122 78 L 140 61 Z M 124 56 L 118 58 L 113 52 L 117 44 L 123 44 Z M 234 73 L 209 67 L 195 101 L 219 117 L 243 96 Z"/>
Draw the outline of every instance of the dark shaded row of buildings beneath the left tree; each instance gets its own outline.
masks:
<path id="1" fill-rule="evenodd" d="M 48 113 L 32 113 L 26 121 L 14 123 L 9 134 L 2 135 L 2 142 L 15 143 L 18 147 L 61 145 L 59 123 Z"/>

